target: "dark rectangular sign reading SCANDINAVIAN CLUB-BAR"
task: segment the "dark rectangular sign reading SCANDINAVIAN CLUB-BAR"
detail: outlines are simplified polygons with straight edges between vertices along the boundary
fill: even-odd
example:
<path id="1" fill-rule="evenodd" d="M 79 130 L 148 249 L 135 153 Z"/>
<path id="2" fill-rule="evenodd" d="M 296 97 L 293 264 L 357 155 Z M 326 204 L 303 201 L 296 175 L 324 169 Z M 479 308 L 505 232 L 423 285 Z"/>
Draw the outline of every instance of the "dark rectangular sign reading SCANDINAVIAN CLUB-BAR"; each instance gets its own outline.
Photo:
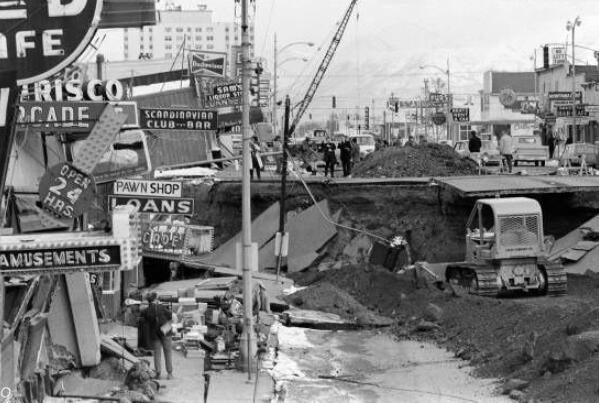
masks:
<path id="1" fill-rule="evenodd" d="M 140 127 L 147 130 L 216 130 L 218 113 L 204 109 L 140 108 Z"/>

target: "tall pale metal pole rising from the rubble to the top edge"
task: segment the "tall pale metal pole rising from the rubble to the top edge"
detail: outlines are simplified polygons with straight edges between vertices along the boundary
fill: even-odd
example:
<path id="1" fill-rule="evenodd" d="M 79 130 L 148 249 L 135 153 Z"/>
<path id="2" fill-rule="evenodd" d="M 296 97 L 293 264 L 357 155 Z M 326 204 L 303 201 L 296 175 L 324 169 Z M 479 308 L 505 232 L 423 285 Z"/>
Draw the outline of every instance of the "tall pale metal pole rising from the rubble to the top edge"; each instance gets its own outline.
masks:
<path id="1" fill-rule="evenodd" d="M 241 132 L 243 143 L 243 173 L 241 181 L 241 232 L 243 271 L 244 326 L 239 347 L 240 366 L 247 365 L 248 380 L 252 379 L 252 361 L 256 353 L 254 318 L 252 316 L 252 212 L 250 193 L 250 38 L 248 24 L 248 1 L 241 0 Z M 257 253 L 257 251 L 256 251 Z"/>

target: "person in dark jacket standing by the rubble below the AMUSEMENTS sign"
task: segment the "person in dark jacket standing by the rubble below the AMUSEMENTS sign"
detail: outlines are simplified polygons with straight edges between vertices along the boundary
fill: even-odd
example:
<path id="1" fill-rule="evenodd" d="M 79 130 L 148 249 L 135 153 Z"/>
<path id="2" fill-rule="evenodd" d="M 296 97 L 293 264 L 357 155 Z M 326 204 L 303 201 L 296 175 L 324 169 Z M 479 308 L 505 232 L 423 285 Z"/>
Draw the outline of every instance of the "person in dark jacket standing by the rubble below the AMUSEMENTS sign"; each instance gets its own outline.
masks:
<path id="1" fill-rule="evenodd" d="M 173 360 L 172 360 L 172 331 L 169 324 L 172 321 L 172 312 L 157 301 L 155 292 L 146 296 L 148 307 L 142 312 L 143 319 L 148 324 L 149 337 L 154 351 L 154 369 L 156 379 L 160 379 L 162 369 L 162 351 L 164 350 L 164 363 L 166 366 L 167 378 L 173 379 Z"/>

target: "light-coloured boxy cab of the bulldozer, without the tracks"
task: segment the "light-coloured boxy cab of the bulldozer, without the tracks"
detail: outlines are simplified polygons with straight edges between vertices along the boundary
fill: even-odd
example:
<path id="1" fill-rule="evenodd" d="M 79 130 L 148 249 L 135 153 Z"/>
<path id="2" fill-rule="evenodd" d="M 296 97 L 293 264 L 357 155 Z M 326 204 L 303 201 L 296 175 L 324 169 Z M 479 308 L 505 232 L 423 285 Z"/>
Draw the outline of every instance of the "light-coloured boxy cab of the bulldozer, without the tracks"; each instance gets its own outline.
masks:
<path id="1" fill-rule="evenodd" d="M 544 253 L 539 203 L 526 197 L 480 199 L 466 229 L 466 260 L 530 258 Z"/>

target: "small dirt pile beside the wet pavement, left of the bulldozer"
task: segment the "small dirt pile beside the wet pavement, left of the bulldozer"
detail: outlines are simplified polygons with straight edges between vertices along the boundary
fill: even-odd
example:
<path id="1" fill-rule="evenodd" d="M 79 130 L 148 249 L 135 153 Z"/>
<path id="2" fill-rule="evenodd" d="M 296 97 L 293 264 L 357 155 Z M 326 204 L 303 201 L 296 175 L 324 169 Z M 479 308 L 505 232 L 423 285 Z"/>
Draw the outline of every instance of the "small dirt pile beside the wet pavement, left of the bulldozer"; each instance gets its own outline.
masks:
<path id="1" fill-rule="evenodd" d="M 360 325 L 389 325 L 383 318 L 356 301 L 347 292 L 328 282 L 321 282 L 298 291 L 285 298 L 287 302 L 301 309 L 334 313 L 345 319 L 355 320 Z"/>

